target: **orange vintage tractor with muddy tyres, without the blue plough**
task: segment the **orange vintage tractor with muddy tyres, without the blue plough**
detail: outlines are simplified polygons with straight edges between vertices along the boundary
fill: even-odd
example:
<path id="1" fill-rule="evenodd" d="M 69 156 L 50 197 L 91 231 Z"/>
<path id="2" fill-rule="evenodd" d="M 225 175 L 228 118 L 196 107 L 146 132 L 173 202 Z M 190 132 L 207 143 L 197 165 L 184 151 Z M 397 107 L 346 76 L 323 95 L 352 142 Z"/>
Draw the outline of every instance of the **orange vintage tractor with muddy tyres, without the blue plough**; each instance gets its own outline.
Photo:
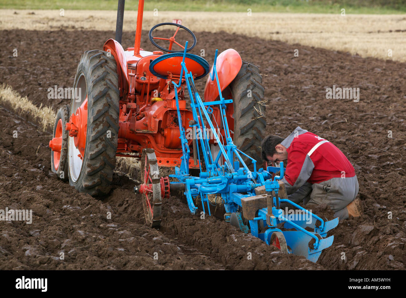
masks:
<path id="1" fill-rule="evenodd" d="M 50 141 L 52 171 L 60 179 L 69 179 L 77 190 L 94 197 L 109 193 L 116 156 L 140 159 L 143 149 L 151 148 L 155 151 L 158 166 L 181 164 L 175 94 L 179 99 L 181 123 L 185 130 L 192 128 L 193 115 L 186 105 L 185 79 L 179 73 L 184 46 L 176 38 L 179 30 L 188 33 L 191 46 L 186 51 L 189 52 L 196 45 L 196 37 L 185 26 L 161 23 L 149 31 L 149 40 L 159 50 L 143 50 L 140 48 L 143 7 L 144 0 L 139 0 L 134 47 L 124 50 L 121 46 L 124 1 L 119 1 L 116 39 L 106 41 L 103 50 L 89 50 L 82 54 L 74 81 L 77 96 L 57 113 Z M 173 27 L 173 35 L 156 37 L 155 29 L 161 26 Z M 162 42 L 168 48 L 164 48 Z M 163 52 L 179 55 L 173 54 L 171 59 L 162 60 Z M 186 55 L 185 63 L 194 80 L 204 78 L 210 71 L 209 63 L 201 56 Z M 259 160 L 266 119 L 264 89 L 258 67 L 242 61 L 237 51 L 228 49 L 218 55 L 216 70 L 222 96 L 229 102 L 226 116 L 233 142 Z M 173 80 L 180 80 L 179 88 L 171 84 Z M 207 76 L 203 100 L 216 101 L 218 98 L 217 82 Z M 219 108 L 213 107 L 211 117 L 213 123 L 218 123 L 219 134 L 225 136 Z M 189 167 L 199 169 L 192 143 L 189 140 L 193 158 Z M 218 152 L 215 140 L 210 141 L 210 146 L 213 154 Z M 249 166 L 251 159 L 244 159 Z"/>

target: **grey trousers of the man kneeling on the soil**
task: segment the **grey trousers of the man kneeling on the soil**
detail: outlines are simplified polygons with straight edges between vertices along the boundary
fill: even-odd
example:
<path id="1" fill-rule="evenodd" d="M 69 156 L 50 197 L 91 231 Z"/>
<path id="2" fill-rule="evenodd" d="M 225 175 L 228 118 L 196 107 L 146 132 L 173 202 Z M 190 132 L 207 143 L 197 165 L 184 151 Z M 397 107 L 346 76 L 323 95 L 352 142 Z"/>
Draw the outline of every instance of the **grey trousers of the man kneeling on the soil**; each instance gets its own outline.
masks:
<path id="1" fill-rule="evenodd" d="M 331 178 L 321 183 L 306 182 L 296 192 L 290 194 L 288 199 L 297 204 L 302 201 L 305 205 L 327 204 L 335 212 L 334 216 L 341 220 L 348 218 L 347 205 L 354 201 L 358 190 L 356 175 L 349 178 Z"/>

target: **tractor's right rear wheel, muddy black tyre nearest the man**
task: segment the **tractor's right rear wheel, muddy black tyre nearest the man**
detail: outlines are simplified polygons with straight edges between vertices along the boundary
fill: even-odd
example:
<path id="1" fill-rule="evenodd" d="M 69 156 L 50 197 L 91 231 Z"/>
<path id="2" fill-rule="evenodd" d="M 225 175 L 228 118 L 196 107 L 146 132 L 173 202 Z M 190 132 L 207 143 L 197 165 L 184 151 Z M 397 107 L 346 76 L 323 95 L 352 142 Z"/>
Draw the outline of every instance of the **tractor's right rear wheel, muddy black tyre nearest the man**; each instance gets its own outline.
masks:
<path id="1" fill-rule="evenodd" d="M 255 159 L 259 168 L 266 118 L 265 89 L 262 86 L 262 76 L 258 67 L 242 61 L 240 71 L 229 85 L 229 91 L 233 99 L 233 143 L 242 152 Z M 246 165 L 252 168 L 251 160 L 244 155 L 241 157 Z"/>

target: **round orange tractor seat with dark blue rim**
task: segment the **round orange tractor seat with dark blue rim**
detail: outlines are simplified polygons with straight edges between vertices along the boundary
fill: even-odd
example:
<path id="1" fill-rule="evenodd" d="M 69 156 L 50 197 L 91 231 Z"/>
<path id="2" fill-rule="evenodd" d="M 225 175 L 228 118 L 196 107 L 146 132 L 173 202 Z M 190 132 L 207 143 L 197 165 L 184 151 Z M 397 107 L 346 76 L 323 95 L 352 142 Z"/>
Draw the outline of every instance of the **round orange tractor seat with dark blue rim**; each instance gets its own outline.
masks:
<path id="1" fill-rule="evenodd" d="M 184 53 L 170 53 L 155 58 L 149 65 L 149 71 L 158 78 L 167 79 L 168 73 L 172 73 L 175 76 L 180 76 L 181 62 L 183 60 Z M 185 64 L 188 72 L 191 72 L 199 80 L 207 75 L 210 71 L 209 63 L 202 58 L 194 54 L 186 53 Z"/>

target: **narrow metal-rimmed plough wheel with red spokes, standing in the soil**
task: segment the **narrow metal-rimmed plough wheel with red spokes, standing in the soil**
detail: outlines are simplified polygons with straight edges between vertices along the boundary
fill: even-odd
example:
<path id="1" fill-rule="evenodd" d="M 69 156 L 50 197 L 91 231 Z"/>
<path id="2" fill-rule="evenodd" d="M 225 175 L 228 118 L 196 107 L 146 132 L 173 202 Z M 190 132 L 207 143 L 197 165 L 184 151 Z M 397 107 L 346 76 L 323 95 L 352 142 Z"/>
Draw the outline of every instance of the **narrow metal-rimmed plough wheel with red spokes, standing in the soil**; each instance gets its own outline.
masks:
<path id="1" fill-rule="evenodd" d="M 141 178 L 143 179 L 143 207 L 145 222 L 153 228 L 161 226 L 161 176 L 154 149 L 143 149 L 141 157 Z"/>

